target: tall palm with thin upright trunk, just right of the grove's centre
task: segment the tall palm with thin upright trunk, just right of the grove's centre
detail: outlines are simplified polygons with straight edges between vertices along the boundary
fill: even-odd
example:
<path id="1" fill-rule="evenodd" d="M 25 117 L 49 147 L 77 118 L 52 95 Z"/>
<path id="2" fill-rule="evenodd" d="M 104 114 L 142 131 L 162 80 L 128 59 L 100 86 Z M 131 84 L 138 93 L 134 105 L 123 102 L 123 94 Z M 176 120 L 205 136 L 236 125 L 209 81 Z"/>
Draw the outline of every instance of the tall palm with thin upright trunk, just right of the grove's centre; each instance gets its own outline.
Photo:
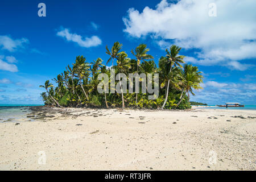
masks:
<path id="1" fill-rule="evenodd" d="M 149 48 L 146 48 L 146 44 L 140 44 L 135 48 L 135 53 L 133 50 L 131 50 L 131 53 L 136 57 L 137 59 L 137 77 L 138 77 L 138 69 L 141 65 L 141 61 L 145 59 L 154 59 L 153 56 L 148 55 L 147 52 L 150 51 Z M 138 86 L 136 87 L 138 89 Z M 136 90 L 136 102 L 135 104 L 137 105 L 137 100 L 138 100 L 138 90 Z"/>

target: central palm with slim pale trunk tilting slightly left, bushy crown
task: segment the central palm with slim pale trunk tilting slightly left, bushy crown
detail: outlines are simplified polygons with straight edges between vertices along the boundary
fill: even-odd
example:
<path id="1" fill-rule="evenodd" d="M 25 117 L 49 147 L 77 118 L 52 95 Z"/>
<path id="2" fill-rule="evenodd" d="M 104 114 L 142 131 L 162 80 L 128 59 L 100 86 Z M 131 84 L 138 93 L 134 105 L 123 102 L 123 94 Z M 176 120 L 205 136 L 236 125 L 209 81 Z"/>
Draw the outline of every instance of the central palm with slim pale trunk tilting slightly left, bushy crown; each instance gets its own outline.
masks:
<path id="1" fill-rule="evenodd" d="M 117 66 L 116 66 L 117 73 L 126 73 L 128 71 L 128 69 L 131 68 L 130 58 L 128 58 L 127 56 L 128 55 L 125 52 L 118 55 Z M 120 77 L 119 77 L 119 82 L 121 84 Z M 120 85 L 120 89 L 121 89 L 121 94 L 122 94 L 122 107 L 125 108 L 125 101 L 123 100 L 122 84 Z"/>

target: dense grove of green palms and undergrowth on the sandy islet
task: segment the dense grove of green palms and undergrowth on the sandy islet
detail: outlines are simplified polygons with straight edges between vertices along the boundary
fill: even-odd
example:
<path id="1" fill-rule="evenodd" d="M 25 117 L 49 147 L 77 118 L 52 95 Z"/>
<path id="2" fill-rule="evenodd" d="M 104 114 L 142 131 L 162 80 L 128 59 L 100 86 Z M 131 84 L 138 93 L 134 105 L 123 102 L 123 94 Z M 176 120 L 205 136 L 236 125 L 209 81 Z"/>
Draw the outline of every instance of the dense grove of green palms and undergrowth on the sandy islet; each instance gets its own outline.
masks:
<path id="1" fill-rule="evenodd" d="M 84 56 L 77 56 L 72 66 L 68 65 L 66 71 L 52 79 L 56 82 L 55 85 L 49 80 L 40 85 L 46 89 L 46 92 L 41 94 L 44 103 L 59 107 L 126 106 L 145 109 L 189 109 L 190 104 L 200 105 L 197 102 L 189 102 L 189 94 L 194 95 L 193 90 L 201 89 L 203 76 L 197 67 L 190 64 L 181 65 L 184 63 L 184 56 L 179 55 L 180 47 L 171 46 L 170 50 L 166 49 L 166 55 L 159 59 L 158 67 L 152 60 L 154 57 L 148 54 L 150 49 L 146 44 L 141 44 L 131 51 L 135 59 L 130 59 L 121 49 L 122 44 L 119 42 L 115 42 L 111 49 L 106 46 L 106 53 L 109 55 L 107 64 L 112 62 L 115 74 L 124 73 L 127 77 L 129 73 L 158 73 L 159 97 L 156 100 L 148 100 L 148 94 L 141 93 L 141 90 L 140 93 L 128 93 L 128 90 L 127 93 L 98 93 L 98 76 L 105 73 L 110 77 L 110 68 L 103 64 L 104 60 L 100 57 L 87 63 Z M 140 82 L 142 80 L 139 79 Z M 130 81 L 127 80 L 127 84 Z M 118 82 L 119 80 L 115 80 L 115 85 Z M 154 85 L 154 81 L 147 81 L 147 84 Z"/>

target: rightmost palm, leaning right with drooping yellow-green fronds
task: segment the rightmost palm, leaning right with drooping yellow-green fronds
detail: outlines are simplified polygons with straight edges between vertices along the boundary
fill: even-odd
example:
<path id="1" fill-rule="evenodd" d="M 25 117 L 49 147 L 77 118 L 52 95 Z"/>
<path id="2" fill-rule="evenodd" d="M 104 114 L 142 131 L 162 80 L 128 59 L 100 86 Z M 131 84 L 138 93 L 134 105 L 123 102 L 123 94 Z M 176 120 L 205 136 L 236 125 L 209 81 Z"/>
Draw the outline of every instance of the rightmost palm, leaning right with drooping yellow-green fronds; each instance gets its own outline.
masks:
<path id="1" fill-rule="evenodd" d="M 197 67 L 193 67 L 191 64 L 185 64 L 184 69 L 181 72 L 182 75 L 182 85 L 185 90 L 185 93 L 181 97 L 180 101 L 177 103 L 177 106 L 180 105 L 180 102 L 183 100 L 185 94 L 188 94 L 188 101 L 189 101 L 189 92 L 195 96 L 192 89 L 203 89 L 200 87 L 200 83 L 203 82 L 203 76 L 200 75 L 201 72 L 198 71 Z M 176 106 L 176 107 L 177 107 Z"/>

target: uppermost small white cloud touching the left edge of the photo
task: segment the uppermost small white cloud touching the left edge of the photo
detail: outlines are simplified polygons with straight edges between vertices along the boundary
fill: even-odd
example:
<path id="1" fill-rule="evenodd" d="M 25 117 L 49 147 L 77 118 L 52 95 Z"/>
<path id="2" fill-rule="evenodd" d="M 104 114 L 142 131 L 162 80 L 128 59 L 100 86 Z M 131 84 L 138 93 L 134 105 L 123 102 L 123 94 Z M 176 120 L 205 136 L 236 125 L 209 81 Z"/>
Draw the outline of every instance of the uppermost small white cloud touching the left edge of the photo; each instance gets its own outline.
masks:
<path id="1" fill-rule="evenodd" d="M 18 47 L 23 47 L 25 43 L 28 43 L 28 39 L 12 39 L 7 35 L 0 35 L 0 47 L 10 52 L 16 51 Z"/>

